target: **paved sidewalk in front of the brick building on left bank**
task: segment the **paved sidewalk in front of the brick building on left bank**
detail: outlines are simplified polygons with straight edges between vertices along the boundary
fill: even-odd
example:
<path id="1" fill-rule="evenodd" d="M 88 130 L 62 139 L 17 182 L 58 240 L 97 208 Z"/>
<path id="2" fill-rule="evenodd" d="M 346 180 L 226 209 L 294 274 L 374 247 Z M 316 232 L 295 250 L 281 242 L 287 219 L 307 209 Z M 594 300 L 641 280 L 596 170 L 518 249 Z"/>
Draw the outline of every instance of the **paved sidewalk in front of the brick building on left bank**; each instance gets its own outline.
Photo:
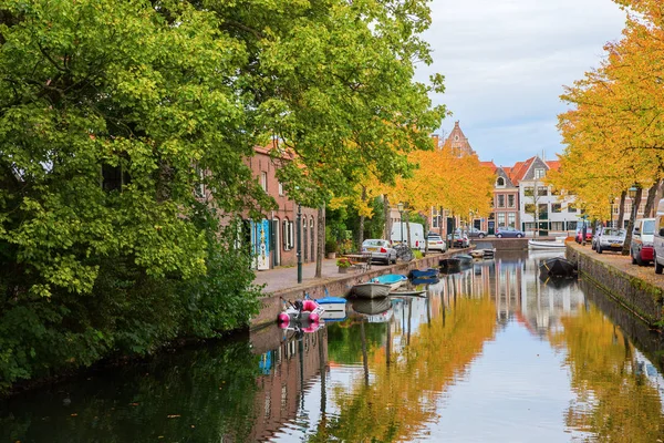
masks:
<path id="1" fill-rule="evenodd" d="M 372 265 L 372 269 L 381 268 L 382 265 Z M 351 274 L 352 271 L 349 271 Z M 349 274 L 339 274 L 335 258 L 323 259 L 323 268 L 321 271 L 322 279 L 314 278 L 315 275 L 315 261 L 302 264 L 302 285 L 303 287 L 314 281 L 322 281 L 325 279 L 334 279 L 341 277 L 347 277 Z M 297 288 L 298 286 L 298 267 L 280 267 L 268 270 L 257 270 L 256 285 L 267 285 L 263 289 L 264 293 L 272 293 L 278 290 Z"/>

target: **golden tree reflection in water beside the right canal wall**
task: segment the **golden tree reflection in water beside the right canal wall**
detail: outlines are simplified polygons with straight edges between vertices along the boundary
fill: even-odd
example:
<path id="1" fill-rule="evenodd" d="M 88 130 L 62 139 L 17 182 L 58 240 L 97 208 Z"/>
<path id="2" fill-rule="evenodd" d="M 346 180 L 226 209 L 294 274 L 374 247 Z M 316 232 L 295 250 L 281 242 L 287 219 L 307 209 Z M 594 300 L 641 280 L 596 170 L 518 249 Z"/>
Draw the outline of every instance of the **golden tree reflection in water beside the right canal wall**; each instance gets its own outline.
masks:
<path id="1" fill-rule="evenodd" d="M 550 333 L 549 340 L 568 353 L 577 394 L 567 413 L 568 426 L 599 441 L 657 441 L 664 425 L 660 393 L 637 370 L 624 332 L 592 305 L 561 322 L 563 329 Z"/>

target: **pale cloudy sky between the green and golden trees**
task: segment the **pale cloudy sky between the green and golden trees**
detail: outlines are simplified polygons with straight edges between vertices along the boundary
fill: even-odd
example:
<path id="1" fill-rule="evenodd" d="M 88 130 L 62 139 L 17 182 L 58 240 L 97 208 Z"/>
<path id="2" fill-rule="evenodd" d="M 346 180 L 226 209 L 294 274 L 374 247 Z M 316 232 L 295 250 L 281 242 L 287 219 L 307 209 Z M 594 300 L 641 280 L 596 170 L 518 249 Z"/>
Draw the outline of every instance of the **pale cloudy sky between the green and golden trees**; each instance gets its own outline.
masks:
<path id="1" fill-rule="evenodd" d="M 433 97 L 481 161 L 510 166 L 536 154 L 561 153 L 557 115 L 563 85 L 596 68 L 603 45 L 621 38 L 625 13 L 611 0 L 433 0 L 424 35 L 434 64 L 419 80 L 445 75 L 445 94 Z"/>

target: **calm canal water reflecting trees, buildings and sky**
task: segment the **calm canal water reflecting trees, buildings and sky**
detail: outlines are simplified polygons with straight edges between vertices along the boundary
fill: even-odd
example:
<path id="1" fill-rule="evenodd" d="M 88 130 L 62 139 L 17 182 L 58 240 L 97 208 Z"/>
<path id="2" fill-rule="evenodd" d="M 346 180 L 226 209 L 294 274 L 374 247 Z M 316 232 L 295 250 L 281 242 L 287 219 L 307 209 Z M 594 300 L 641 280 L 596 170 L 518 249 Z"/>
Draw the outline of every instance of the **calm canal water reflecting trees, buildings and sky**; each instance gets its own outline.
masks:
<path id="1" fill-rule="evenodd" d="M 657 442 L 662 342 L 547 255 L 0 402 L 0 442 Z M 363 312 L 363 313 L 360 313 Z"/>

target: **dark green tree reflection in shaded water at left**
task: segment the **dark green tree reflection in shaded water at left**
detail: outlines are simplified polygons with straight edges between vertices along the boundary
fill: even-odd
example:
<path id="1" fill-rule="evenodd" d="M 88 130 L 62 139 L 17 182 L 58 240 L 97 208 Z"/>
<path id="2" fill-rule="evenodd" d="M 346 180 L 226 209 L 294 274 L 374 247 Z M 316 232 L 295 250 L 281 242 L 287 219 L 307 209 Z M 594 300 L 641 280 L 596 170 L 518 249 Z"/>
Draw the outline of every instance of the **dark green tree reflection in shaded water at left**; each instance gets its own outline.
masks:
<path id="1" fill-rule="evenodd" d="M 246 441 L 258 361 L 248 341 L 206 346 L 25 393 L 0 406 L 0 441 Z"/>

